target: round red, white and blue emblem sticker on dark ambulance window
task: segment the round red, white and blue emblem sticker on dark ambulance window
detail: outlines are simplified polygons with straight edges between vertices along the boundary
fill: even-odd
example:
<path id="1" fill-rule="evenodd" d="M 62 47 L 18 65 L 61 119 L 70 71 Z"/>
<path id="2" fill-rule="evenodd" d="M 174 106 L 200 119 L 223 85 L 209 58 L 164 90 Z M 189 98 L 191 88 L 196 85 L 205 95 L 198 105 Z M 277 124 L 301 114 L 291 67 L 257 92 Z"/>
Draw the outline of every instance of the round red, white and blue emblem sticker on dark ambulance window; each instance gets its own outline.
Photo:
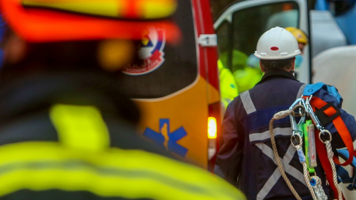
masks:
<path id="1" fill-rule="evenodd" d="M 161 67 L 164 63 L 164 46 L 166 37 L 161 27 L 147 28 L 142 34 L 142 41 L 138 49 L 138 57 L 142 64 L 130 64 L 122 73 L 129 75 L 142 75 L 150 73 Z"/>

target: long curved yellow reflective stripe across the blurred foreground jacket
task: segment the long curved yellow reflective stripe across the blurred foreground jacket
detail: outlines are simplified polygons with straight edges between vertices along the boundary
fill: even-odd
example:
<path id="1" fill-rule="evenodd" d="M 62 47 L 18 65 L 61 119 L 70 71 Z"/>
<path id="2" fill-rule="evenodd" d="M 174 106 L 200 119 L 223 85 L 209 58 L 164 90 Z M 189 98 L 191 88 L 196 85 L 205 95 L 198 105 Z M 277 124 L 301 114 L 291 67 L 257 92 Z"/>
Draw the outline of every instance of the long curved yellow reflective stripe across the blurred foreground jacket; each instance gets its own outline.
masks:
<path id="1" fill-rule="evenodd" d="M 244 199 L 202 169 L 144 151 L 88 154 L 54 142 L 23 142 L 1 146 L 0 154 L 0 196 L 60 189 L 130 199 Z"/>

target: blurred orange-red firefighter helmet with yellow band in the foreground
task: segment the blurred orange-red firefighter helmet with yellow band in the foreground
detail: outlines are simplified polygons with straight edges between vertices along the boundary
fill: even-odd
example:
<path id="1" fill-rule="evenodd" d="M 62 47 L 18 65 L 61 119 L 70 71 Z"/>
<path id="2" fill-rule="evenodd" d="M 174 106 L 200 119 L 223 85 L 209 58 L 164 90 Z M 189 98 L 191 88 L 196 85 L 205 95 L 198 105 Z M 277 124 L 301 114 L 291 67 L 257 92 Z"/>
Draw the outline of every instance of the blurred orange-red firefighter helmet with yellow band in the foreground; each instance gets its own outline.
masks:
<path id="1" fill-rule="evenodd" d="M 138 3 L 139 1 L 139 3 Z M 0 0 L 11 29 L 28 42 L 141 40 L 147 27 L 162 27 L 168 42 L 180 38 L 167 17 L 176 0 Z"/>

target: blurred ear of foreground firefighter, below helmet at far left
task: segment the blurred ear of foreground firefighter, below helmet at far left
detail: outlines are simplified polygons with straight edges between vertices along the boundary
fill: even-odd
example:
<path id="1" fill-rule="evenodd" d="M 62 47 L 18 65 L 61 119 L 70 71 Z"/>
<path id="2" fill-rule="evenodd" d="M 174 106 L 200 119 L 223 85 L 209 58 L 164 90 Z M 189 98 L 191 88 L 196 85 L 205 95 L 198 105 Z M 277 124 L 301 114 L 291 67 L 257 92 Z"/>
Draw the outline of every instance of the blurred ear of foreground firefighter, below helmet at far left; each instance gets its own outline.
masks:
<path id="1" fill-rule="evenodd" d="M 27 43 L 15 33 L 9 33 L 2 46 L 5 63 L 17 64 L 26 56 Z"/>

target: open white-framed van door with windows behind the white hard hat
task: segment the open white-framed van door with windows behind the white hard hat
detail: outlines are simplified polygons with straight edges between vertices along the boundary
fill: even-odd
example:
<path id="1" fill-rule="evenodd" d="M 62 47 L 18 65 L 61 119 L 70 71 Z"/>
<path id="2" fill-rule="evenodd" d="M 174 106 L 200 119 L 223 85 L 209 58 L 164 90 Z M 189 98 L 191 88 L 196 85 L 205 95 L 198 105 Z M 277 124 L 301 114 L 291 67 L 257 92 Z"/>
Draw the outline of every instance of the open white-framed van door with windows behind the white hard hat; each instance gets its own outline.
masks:
<path id="1" fill-rule="evenodd" d="M 215 21 L 219 57 L 235 78 L 251 61 L 258 38 L 276 26 L 297 27 L 310 35 L 307 1 L 245 0 L 228 7 Z M 297 79 L 304 83 L 311 83 L 310 57 L 309 41 L 309 45 L 304 47 L 303 61 L 295 70 Z M 255 67 L 258 68 L 258 64 Z"/>

